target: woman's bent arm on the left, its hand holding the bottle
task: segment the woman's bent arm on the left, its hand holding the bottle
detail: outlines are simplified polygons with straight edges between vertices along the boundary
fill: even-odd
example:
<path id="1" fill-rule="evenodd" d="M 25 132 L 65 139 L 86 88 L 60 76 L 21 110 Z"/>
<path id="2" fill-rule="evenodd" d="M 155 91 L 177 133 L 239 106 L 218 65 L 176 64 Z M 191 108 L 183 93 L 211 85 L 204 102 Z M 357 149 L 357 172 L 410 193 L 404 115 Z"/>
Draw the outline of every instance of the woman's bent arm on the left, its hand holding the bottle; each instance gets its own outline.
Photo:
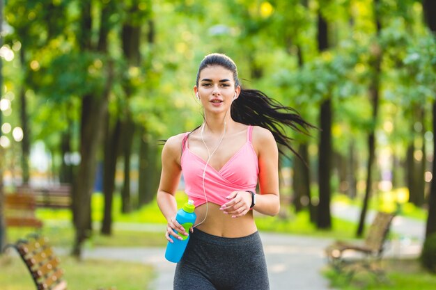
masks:
<path id="1" fill-rule="evenodd" d="M 180 181 L 182 170 L 180 168 L 180 154 L 183 134 L 169 138 L 162 150 L 162 173 L 160 175 L 159 189 L 157 190 L 157 205 L 168 221 L 166 239 L 171 241 L 169 235 L 178 237 L 174 229 L 185 233 L 185 228 L 176 221 L 177 202 L 176 190 Z"/>

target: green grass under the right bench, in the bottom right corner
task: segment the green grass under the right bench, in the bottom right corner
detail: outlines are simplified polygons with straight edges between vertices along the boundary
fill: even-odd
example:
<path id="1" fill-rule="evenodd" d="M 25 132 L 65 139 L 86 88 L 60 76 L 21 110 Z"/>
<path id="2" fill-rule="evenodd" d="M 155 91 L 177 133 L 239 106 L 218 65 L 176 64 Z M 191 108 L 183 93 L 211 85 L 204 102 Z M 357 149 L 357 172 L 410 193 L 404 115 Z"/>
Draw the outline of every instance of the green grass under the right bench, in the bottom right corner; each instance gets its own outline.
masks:
<path id="1" fill-rule="evenodd" d="M 382 266 L 387 275 L 387 281 L 376 280 L 367 272 L 359 272 L 348 281 L 344 275 L 338 275 L 328 268 L 325 276 L 331 286 L 338 290 L 433 290 L 436 285 L 436 275 L 423 270 L 416 259 L 387 259 Z"/>

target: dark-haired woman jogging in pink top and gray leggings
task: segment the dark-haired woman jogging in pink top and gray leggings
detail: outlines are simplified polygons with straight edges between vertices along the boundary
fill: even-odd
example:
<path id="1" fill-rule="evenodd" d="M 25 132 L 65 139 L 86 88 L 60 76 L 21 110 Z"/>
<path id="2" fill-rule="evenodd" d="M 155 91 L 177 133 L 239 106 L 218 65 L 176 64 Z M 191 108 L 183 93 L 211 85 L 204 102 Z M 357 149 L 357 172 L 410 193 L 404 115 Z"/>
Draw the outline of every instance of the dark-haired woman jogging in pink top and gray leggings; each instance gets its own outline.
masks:
<path id="1" fill-rule="evenodd" d="M 306 131 L 311 124 L 263 92 L 242 89 L 235 63 L 224 54 L 203 58 L 194 93 L 203 124 L 166 141 L 157 192 L 170 242 L 178 239 L 175 231 L 187 234 L 176 221 L 174 197 L 182 174 L 196 207 L 174 289 L 270 289 L 253 211 L 279 213 L 277 143 L 294 152 L 281 127 Z"/>

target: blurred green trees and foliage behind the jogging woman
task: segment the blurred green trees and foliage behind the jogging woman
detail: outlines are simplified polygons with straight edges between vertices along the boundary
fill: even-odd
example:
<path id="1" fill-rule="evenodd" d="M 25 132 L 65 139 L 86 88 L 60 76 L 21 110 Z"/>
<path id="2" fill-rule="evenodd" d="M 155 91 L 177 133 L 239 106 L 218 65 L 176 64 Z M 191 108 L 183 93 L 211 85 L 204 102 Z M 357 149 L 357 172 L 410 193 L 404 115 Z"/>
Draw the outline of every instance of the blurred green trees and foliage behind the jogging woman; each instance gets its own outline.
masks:
<path id="1" fill-rule="evenodd" d="M 93 221 L 110 235 L 113 215 L 155 203 L 159 140 L 201 124 L 192 88 L 212 52 L 233 58 L 242 86 L 319 128 L 287 132 L 302 160 L 281 159 L 279 218 L 304 211 L 332 229 L 332 201 L 346 199 L 357 236 L 371 207 L 419 210 L 426 236 L 436 232 L 435 1 L 1 5 L 0 201 L 66 186 L 75 255 Z"/>

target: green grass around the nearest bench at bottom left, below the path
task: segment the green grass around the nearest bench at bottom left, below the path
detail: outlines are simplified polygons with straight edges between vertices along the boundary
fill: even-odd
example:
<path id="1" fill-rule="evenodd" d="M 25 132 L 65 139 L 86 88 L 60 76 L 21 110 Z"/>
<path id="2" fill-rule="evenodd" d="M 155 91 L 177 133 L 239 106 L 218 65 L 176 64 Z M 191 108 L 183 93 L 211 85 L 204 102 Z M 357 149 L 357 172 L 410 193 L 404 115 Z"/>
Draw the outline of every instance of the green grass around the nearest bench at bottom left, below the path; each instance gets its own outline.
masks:
<path id="1" fill-rule="evenodd" d="M 60 257 L 68 289 L 98 289 L 114 286 L 117 289 L 148 289 L 155 273 L 151 266 L 106 259 L 77 261 Z M 24 262 L 17 256 L 0 257 L 0 285 L 2 290 L 34 290 L 35 285 Z"/>

